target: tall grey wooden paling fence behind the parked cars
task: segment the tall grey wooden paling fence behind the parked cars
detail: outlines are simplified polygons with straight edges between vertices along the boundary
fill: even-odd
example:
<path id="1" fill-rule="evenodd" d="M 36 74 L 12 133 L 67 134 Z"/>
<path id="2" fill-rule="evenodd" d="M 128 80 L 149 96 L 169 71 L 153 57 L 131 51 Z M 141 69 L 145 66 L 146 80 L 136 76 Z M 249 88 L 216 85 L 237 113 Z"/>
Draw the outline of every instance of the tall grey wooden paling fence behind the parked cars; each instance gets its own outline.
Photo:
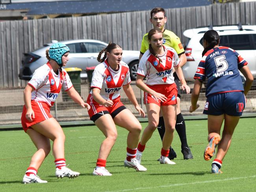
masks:
<path id="1" fill-rule="evenodd" d="M 157 6 L 157 4 L 156 4 Z M 199 26 L 256 24 L 256 2 L 166 9 L 166 28 L 184 44 L 184 30 Z M 124 50 L 139 50 L 151 28 L 150 10 L 85 17 L 0 22 L 0 88 L 25 85 L 18 77 L 22 54 L 55 39 L 98 39 L 116 42 Z"/>

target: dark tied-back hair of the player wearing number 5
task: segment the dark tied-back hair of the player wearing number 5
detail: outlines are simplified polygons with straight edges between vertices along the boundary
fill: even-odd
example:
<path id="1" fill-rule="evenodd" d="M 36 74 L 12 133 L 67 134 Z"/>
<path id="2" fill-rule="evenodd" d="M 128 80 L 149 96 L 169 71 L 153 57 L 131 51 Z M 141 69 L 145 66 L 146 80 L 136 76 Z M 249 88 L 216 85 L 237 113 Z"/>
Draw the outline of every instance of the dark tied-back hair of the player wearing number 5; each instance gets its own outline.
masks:
<path id="1" fill-rule="evenodd" d="M 209 30 L 204 33 L 203 41 L 206 41 L 209 43 L 209 46 L 204 49 L 202 52 L 202 57 L 206 52 L 211 50 L 215 45 L 219 44 L 219 34 L 215 30 Z"/>

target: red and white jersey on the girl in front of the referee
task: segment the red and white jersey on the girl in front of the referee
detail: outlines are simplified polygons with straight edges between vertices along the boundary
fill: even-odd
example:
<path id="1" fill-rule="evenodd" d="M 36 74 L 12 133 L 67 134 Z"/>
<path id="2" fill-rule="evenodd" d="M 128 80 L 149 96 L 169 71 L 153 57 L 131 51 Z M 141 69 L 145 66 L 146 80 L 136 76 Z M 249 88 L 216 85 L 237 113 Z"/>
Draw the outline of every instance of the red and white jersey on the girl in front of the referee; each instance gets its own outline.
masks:
<path id="1" fill-rule="evenodd" d="M 165 46 L 163 46 L 163 48 L 165 53 L 158 55 L 162 60 L 161 63 L 149 50 L 143 54 L 139 61 L 137 74 L 147 77 L 147 85 L 174 83 L 173 67 L 179 65 L 180 58 L 173 48 Z"/>

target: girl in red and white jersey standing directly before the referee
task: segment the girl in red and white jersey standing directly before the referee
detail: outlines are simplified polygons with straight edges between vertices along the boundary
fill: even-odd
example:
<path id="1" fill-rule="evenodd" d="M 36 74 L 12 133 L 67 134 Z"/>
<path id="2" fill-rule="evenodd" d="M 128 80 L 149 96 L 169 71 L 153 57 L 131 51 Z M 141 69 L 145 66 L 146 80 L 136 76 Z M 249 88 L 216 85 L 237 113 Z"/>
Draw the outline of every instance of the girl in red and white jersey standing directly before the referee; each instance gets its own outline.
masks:
<path id="1" fill-rule="evenodd" d="M 143 131 L 137 147 L 136 158 L 140 162 L 145 145 L 158 126 L 160 110 L 165 122 L 165 134 L 162 141 L 161 164 L 175 164 L 168 158 L 176 124 L 177 87 L 174 83 L 173 68 L 182 84 L 182 89 L 190 89 L 179 66 L 180 59 L 173 48 L 163 46 L 163 33 L 159 29 L 148 32 L 149 50 L 141 60 L 137 70 L 136 85 L 144 90 L 144 103 L 148 114 L 148 126 Z M 144 78 L 146 83 L 143 82 Z"/>

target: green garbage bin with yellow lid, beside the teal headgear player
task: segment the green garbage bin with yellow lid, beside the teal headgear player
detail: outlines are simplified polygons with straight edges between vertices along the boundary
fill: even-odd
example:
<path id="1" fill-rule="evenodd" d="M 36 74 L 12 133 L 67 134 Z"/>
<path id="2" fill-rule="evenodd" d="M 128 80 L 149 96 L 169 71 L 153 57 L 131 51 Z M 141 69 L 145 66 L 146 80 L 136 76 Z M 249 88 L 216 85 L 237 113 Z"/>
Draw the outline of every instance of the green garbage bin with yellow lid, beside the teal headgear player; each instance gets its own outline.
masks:
<path id="1" fill-rule="evenodd" d="M 65 68 L 65 70 L 69 74 L 69 78 L 70 78 L 74 88 L 81 95 L 80 73 L 81 73 L 82 69 L 77 68 L 77 67 L 70 67 L 70 68 Z M 71 101 L 72 100 L 64 90 L 62 91 L 62 100 L 63 101 Z"/>

